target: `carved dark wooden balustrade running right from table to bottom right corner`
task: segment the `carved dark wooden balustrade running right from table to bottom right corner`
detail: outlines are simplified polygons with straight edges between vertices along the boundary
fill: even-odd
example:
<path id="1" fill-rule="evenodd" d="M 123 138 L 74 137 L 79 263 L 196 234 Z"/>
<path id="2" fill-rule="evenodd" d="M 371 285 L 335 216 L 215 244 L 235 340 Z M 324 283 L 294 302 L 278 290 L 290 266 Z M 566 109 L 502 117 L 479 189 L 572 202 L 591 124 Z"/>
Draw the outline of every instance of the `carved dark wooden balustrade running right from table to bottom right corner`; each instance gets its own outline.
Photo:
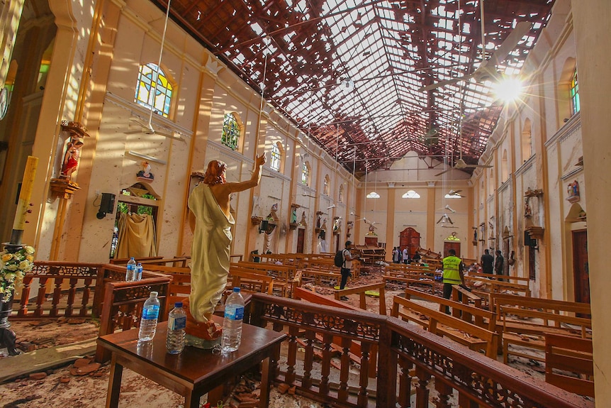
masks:
<path id="1" fill-rule="evenodd" d="M 288 355 L 272 368 L 274 380 L 335 407 L 406 408 L 412 407 L 413 394 L 415 408 L 429 407 L 431 400 L 437 408 L 594 407 L 581 396 L 393 317 L 265 294 L 252 295 L 251 312 L 252 324 L 288 332 Z M 360 343 L 357 355 L 349 348 L 352 341 Z M 375 344 L 378 375 L 369 378 Z M 351 379 L 355 358 L 360 373 Z"/>

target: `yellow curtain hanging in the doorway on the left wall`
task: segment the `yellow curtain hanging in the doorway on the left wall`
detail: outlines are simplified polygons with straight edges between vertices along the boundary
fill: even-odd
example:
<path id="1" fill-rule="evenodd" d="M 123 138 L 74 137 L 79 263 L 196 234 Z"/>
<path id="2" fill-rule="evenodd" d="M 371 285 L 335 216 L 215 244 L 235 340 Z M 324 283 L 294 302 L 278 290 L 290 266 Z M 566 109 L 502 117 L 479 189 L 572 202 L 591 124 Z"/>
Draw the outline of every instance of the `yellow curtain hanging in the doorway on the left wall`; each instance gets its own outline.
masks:
<path id="1" fill-rule="evenodd" d="M 157 256 L 155 222 L 152 216 L 121 213 L 118 228 L 119 236 L 115 258 Z"/>

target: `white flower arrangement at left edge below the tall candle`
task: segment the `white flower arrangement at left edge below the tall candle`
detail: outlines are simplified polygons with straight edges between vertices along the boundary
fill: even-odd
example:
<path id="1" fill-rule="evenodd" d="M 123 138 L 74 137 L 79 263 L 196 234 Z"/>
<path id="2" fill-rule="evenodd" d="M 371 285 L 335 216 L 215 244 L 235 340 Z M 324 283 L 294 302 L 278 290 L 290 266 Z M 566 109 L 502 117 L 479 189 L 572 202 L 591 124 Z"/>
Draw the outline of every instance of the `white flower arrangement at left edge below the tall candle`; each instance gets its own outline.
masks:
<path id="1" fill-rule="evenodd" d="M 21 286 L 23 277 L 34 267 L 34 248 L 24 246 L 16 252 L 3 250 L 0 252 L 0 294 L 3 294 L 2 302 L 11 300 L 11 295 L 16 287 Z"/>

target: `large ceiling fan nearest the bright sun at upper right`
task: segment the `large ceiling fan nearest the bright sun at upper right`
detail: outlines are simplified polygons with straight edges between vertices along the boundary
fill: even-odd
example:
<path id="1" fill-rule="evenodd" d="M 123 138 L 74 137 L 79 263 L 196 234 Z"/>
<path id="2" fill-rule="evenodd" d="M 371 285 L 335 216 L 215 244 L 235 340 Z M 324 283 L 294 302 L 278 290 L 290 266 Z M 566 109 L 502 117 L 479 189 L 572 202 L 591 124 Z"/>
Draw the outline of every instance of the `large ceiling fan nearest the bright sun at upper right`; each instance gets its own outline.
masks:
<path id="1" fill-rule="evenodd" d="M 483 14 L 483 12 L 482 12 Z M 482 33 L 483 31 L 483 18 L 481 18 L 482 25 Z M 517 46 L 517 43 L 520 42 L 522 37 L 524 37 L 532 28 L 532 23 L 529 21 L 520 21 L 515 25 L 512 32 L 505 38 L 503 43 L 497 48 L 494 53 L 486 60 L 486 45 L 482 42 L 482 50 L 483 50 L 483 62 L 477 69 L 469 75 L 464 75 L 463 77 L 456 77 L 452 79 L 447 79 L 446 81 L 436 82 L 435 84 L 430 84 L 425 87 L 418 89 L 419 92 L 430 91 L 431 89 L 436 89 L 439 87 L 445 87 L 446 85 L 455 84 L 456 82 L 466 81 L 468 79 L 475 79 L 477 82 L 484 82 L 487 79 L 491 79 L 498 75 L 496 70 L 496 65 L 503 62 L 512 52 L 512 50 Z"/>

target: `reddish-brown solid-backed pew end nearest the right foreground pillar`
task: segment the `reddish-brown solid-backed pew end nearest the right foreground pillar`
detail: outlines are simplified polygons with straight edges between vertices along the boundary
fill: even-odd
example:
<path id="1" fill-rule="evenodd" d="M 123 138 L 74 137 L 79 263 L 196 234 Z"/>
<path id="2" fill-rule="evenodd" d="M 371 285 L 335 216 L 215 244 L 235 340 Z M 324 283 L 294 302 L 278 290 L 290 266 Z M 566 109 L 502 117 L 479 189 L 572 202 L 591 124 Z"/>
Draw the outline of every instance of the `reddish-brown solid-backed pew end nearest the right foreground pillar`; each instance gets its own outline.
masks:
<path id="1" fill-rule="evenodd" d="M 590 339 L 546 333 L 545 381 L 568 392 L 594 397 L 592 353 Z"/>

